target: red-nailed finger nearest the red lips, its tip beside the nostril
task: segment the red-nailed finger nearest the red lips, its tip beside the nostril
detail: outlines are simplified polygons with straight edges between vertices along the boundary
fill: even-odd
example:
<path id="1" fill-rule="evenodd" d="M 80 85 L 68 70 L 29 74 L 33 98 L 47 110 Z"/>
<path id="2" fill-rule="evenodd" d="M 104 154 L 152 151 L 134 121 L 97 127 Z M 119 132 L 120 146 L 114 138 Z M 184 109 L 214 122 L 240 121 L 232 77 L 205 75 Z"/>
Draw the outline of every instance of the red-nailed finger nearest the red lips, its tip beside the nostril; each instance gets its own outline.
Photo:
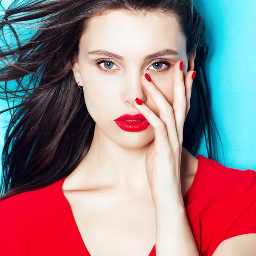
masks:
<path id="1" fill-rule="evenodd" d="M 168 135 L 167 135 L 167 131 L 166 131 L 166 127 L 165 127 L 164 123 L 144 103 L 142 103 L 139 100 L 140 104 L 142 104 L 142 105 L 139 105 L 136 102 L 136 100 L 138 100 L 138 98 L 136 98 L 134 100 L 135 108 L 138 111 L 140 111 L 140 113 L 142 113 L 143 116 L 145 116 L 145 119 L 147 119 L 148 122 L 154 128 L 154 133 L 155 133 L 154 152 L 155 152 L 155 154 L 158 154 L 158 155 L 163 154 L 163 153 L 167 153 L 168 154 L 169 152 L 171 152 L 171 148 L 170 148 L 170 144 L 169 144 L 169 140 L 168 140 Z"/>

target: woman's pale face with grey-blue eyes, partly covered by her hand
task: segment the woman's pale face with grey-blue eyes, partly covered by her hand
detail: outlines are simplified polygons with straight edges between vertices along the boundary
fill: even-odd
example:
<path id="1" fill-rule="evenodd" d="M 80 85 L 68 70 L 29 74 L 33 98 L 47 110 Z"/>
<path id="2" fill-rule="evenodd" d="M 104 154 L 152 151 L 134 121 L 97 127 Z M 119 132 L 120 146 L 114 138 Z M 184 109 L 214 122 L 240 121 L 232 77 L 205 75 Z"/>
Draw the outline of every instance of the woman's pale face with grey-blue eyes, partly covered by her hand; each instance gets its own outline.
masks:
<path id="1" fill-rule="evenodd" d="M 169 52 L 145 59 L 166 49 Z M 140 132 L 127 132 L 113 121 L 125 113 L 138 113 L 134 107 L 136 97 L 159 117 L 157 106 L 141 84 L 141 76 L 148 73 L 173 105 L 173 65 L 183 61 L 183 76 L 188 67 L 194 69 L 194 58 L 186 55 L 186 38 L 176 19 L 156 13 L 144 16 L 113 11 L 93 18 L 81 36 L 77 60 L 72 69 L 76 81 L 83 86 L 87 109 L 99 128 L 95 132 L 103 132 L 125 148 L 141 148 L 154 139 L 151 125 Z"/>

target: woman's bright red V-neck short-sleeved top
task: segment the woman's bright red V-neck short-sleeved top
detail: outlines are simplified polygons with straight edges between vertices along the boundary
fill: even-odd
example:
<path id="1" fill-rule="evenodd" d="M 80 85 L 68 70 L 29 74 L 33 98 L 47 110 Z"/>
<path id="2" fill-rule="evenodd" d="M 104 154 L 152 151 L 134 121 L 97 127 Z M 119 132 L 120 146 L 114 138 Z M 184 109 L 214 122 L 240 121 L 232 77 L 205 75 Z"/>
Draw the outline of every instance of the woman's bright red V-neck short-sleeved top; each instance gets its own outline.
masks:
<path id="1" fill-rule="evenodd" d="M 198 171 L 183 199 L 199 254 L 211 256 L 221 241 L 256 233 L 256 172 L 197 158 Z M 0 201 L 1 256 L 90 256 L 63 182 Z"/>

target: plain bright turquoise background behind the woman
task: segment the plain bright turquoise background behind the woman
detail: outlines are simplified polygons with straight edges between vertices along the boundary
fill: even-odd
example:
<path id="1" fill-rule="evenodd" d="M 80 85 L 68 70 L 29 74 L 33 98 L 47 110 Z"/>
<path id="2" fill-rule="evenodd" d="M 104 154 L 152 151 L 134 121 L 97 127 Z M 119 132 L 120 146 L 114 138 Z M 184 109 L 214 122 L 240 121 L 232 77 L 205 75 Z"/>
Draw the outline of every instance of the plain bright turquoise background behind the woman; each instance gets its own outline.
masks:
<path id="1" fill-rule="evenodd" d="M 4 6 L 11 2 L 5 0 Z M 256 170 L 256 1 L 203 0 L 203 6 L 212 114 L 224 147 L 223 156 L 218 140 L 218 162 Z M 6 107 L 0 102 L 1 110 Z M 0 153 L 9 118 L 8 113 L 0 115 Z M 207 156 L 205 140 L 198 154 Z"/>

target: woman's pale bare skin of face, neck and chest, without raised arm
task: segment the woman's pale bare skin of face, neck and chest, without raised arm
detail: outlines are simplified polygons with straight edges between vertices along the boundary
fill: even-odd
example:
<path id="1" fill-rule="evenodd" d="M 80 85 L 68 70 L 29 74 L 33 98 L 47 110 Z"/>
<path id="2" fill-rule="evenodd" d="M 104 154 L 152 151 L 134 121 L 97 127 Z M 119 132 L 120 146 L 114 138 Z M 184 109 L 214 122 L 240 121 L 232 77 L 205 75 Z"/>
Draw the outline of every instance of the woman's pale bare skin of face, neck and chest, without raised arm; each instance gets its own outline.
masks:
<path id="1" fill-rule="evenodd" d="M 152 63 L 159 58 L 143 62 L 145 55 L 166 48 L 179 53 L 160 57 L 169 60 L 170 67 L 160 62 L 162 67 L 158 70 Z M 98 49 L 121 55 L 125 61 L 87 54 Z M 90 150 L 65 179 L 62 190 L 91 255 L 106 255 L 106 252 L 148 255 L 154 246 L 155 213 L 145 170 L 145 152 L 154 140 L 154 128 L 149 125 L 140 132 L 126 132 L 113 120 L 125 113 L 139 113 L 134 107 L 136 97 L 159 117 L 157 106 L 141 84 L 141 76 L 148 73 L 173 105 L 173 66 L 183 61 L 185 76 L 194 69 L 195 54 L 186 55 L 186 38 L 175 17 L 156 12 L 145 16 L 109 12 L 90 20 L 89 29 L 81 36 L 72 70 L 76 82 L 83 86 L 84 100 L 96 126 Z M 103 62 L 95 64 L 102 58 L 113 63 L 109 67 L 113 72 L 100 69 L 108 71 L 108 61 L 105 66 Z M 198 159 L 183 148 L 180 166 L 183 195 L 190 188 L 197 168 Z M 123 230 L 131 230 L 132 239 Z M 118 232 L 120 236 L 116 236 Z M 97 244 L 102 246 L 99 248 Z M 127 244 L 131 245 L 129 249 Z"/>

